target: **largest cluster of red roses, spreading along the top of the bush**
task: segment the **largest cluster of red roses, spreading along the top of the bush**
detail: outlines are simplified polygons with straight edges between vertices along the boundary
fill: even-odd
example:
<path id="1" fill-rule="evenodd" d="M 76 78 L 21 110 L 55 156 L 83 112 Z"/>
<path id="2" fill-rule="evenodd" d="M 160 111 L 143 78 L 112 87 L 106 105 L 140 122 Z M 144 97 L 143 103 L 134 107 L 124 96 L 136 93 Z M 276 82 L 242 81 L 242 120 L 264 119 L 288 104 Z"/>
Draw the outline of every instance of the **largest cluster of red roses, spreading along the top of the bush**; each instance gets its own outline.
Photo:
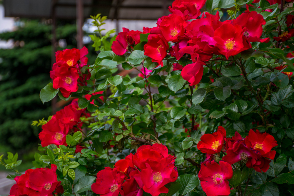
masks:
<path id="1" fill-rule="evenodd" d="M 177 0 L 174 1 L 168 16 L 162 16 L 154 28 L 143 28 L 141 31 L 129 31 L 123 28 L 118 33 L 111 48 L 117 55 L 131 51 L 133 46 L 140 43 L 141 33 L 150 33 L 148 42 L 144 45 L 144 54 L 161 65 L 169 53 L 179 60 L 185 54 L 191 55 L 192 64 L 177 66 L 182 77 L 189 81 L 191 86 L 200 82 L 203 75 L 203 65 L 214 54 L 224 55 L 227 59 L 241 51 L 251 48 L 250 42 L 268 42 L 270 39 L 260 39 L 266 22 L 263 16 L 256 11 L 245 12 L 233 20 L 219 21 L 219 13 L 202 14 L 200 9 L 205 0 Z M 194 19 L 193 21 L 188 21 Z M 169 49 L 168 42 L 173 42 Z M 176 64 L 177 65 L 177 64 Z M 143 68 L 142 68 L 143 73 Z M 145 70 L 146 71 L 146 70 Z M 140 77 L 143 77 L 142 74 Z"/>

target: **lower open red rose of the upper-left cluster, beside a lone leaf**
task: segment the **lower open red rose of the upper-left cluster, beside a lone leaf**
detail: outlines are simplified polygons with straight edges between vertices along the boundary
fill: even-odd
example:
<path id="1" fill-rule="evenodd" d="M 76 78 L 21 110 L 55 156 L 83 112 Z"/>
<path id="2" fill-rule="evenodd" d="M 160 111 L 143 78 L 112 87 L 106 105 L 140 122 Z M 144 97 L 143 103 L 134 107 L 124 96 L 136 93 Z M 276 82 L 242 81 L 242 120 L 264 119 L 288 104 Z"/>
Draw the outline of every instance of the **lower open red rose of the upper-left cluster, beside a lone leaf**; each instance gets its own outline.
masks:
<path id="1" fill-rule="evenodd" d="M 53 79 L 53 88 L 60 88 L 60 92 L 66 98 L 71 92 L 78 91 L 78 71 L 76 68 L 57 67 L 50 71 L 50 77 Z"/>

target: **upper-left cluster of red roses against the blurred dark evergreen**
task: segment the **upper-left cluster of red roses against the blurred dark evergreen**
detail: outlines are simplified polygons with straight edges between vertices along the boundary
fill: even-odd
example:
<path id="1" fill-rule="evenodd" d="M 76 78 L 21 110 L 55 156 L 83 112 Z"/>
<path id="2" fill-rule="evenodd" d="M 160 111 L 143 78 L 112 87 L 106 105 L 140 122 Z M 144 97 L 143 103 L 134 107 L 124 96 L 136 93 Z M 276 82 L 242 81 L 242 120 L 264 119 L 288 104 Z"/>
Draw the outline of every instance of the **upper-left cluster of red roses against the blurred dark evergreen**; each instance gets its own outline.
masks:
<path id="1" fill-rule="evenodd" d="M 78 91 L 78 79 L 82 83 L 90 79 L 90 73 L 79 76 L 81 67 L 87 65 L 87 54 L 86 47 L 80 50 L 73 48 L 56 52 L 56 63 L 53 64 L 53 70 L 50 71 L 50 78 L 53 79 L 53 88 L 60 88 L 59 90 L 65 98 L 68 98 L 72 92 Z M 82 86 L 84 85 L 82 84 Z"/>

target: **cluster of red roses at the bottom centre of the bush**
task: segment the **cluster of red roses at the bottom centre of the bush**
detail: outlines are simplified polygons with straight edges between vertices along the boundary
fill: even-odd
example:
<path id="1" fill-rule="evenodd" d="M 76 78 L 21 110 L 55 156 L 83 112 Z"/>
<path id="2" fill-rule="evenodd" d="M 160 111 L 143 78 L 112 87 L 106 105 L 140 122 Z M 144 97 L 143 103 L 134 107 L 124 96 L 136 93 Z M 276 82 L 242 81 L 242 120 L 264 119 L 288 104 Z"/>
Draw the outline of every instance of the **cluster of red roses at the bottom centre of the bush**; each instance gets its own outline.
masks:
<path id="1" fill-rule="evenodd" d="M 167 193 L 164 186 L 178 178 L 175 157 L 168 155 L 162 144 L 143 145 L 135 155 L 116 162 L 113 169 L 105 167 L 97 173 L 92 190 L 101 196 L 142 196 L 143 190 L 152 196 Z"/>

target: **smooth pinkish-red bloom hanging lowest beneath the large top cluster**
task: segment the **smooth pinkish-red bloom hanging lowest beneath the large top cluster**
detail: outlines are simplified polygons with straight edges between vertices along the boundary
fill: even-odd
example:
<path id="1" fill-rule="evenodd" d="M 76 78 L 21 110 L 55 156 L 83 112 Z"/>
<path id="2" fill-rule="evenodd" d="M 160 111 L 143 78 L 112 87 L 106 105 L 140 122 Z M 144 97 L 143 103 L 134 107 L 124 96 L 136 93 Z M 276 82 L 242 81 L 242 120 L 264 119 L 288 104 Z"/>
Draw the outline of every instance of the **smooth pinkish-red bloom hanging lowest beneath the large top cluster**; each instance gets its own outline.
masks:
<path id="1" fill-rule="evenodd" d="M 183 68 L 181 75 L 184 80 L 190 83 L 190 86 L 196 85 L 203 76 L 203 65 L 198 62 L 188 64 Z"/>

